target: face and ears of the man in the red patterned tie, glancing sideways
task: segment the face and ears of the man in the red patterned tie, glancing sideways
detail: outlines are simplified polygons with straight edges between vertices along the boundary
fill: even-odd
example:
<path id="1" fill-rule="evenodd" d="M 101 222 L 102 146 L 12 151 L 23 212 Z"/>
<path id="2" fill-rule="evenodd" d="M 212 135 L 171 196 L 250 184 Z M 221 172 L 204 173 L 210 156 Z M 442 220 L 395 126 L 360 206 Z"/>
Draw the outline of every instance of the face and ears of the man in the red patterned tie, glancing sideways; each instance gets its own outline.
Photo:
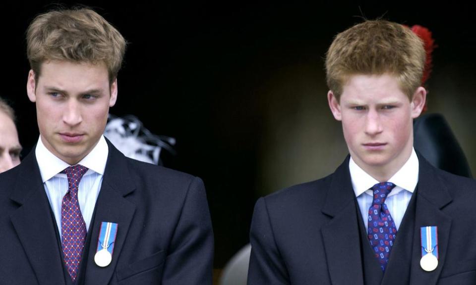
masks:
<path id="1" fill-rule="evenodd" d="M 49 61 L 42 64 L 38 81 L 30 70 L 27 92 L 36 103 L 43 144 L 73 165 L 103 134 L 109 107 L 116 103 L 117 81 L 110 86 L 104 64 Z"/>

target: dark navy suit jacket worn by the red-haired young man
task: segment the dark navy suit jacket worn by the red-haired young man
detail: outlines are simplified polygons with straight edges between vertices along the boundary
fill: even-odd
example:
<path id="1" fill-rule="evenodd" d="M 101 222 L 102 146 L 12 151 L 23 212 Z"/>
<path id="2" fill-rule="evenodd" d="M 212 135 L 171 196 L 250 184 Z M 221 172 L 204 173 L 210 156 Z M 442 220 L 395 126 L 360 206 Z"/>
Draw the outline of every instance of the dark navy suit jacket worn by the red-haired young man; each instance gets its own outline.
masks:
<path id="1" fill-rule="evenodd" d="M 476 181 L 438 170 L 420 155 L 418 160 L 414 210 L 405 213 L 381 284 L 474 285 Z M 251 224 L 248 285 L 363 285 L 368 267 L 362 246 L 368 243 L 360 242 L 358 219 L 349 157 L 326 178 L 260 198 Z M 432 272 L 419 265 L 425 226 L 438 227 L 439 263 Z"/>

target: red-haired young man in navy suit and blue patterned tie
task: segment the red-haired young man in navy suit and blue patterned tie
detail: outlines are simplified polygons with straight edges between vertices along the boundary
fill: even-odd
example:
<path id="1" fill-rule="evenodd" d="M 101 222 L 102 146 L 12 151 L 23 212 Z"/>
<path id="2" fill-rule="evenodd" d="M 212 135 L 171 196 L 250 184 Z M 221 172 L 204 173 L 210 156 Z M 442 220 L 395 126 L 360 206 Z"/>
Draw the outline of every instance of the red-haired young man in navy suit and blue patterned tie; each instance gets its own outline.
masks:
<path id="1" fill-rule="evenodd" d="M 397 23 L 336 36 L 327 99 L 350 155 L 328 177 L 258 200 L 248 284 L 476 284 L 476 183 L 413 148 L 424 61 Z"/>

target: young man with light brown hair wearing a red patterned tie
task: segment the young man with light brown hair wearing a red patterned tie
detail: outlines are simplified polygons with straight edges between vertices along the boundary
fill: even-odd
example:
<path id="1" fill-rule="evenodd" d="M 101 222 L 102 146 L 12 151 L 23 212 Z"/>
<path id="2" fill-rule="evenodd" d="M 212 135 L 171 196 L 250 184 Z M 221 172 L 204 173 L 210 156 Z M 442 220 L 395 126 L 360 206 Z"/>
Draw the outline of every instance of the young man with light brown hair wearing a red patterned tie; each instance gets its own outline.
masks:
<path id="1" fill-rule="evenodd" d="M 125 46 L 88 8 L 30 24 L 27 93 L 40 138 L 0 175 L 2 284 L 211 284 L 202 181 L 126 158 L 102 135 Z"/>

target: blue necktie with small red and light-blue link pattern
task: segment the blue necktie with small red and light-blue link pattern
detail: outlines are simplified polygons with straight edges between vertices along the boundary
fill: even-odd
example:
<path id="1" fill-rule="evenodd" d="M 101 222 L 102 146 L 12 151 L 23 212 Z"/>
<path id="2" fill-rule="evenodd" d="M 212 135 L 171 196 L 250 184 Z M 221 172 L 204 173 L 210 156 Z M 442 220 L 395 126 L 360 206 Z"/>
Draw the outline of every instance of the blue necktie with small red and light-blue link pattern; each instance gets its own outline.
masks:
<path id="1" fill-rule="evenodd" d="M 397 227 L 385 204 L 387 195 L 394 188 L 395 184 L 390 182 L 375 184 L 371 188 L 373 201 L 368 209 L 368 240 L 383 272 L 387 267 L 390 251 L 397 235 Z"/>

